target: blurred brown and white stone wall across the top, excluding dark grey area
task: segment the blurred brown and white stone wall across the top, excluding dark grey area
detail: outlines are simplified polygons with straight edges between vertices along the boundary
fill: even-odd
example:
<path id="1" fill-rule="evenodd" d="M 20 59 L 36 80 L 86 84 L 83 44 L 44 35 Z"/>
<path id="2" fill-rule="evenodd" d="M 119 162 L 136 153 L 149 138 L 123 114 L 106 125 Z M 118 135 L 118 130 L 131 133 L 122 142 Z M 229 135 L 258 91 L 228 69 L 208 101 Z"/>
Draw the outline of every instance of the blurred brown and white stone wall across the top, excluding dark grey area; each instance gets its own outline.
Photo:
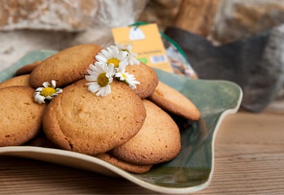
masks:
<path id="1" fill-rule="evenodd" d="M 197 12 L 189 14 L 188 20 L 178 18 L 185 1 L 0 0 L 0 66 L 7 67 L 17 56 L 34 49 L 62 49 L 80 43 L 108 45 L 112 41 L 110 27 L 146 21 L 158 23 L 163 31 L 209 17 L 210 12 L 206 16 Z M 202 22 L 198 31 L 193 25 L 184 25 L 189 32 L 217 44 L 237 41 L 284 22 L 283 0 L 187 1 L 191 10 L 200 2 L 219 3 L 217 11 L 210 13 L 214 19 L 210 27 Z"/>

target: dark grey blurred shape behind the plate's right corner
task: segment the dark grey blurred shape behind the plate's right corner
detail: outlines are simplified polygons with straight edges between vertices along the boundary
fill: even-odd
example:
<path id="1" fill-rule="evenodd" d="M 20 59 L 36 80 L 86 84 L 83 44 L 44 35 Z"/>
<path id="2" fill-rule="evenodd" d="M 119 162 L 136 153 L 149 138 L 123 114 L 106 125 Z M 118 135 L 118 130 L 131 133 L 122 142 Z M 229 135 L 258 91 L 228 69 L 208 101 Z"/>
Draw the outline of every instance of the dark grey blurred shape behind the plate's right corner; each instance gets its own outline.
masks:
<path id="1" fill-rule="evenodd" d="M 284 25 L 220 46 L 174 27 L 165 33 L 185 51 L 199 78 L 239 84 L 244 91 L 241 106 L 249 111 L 262 111 L 283 87 Z"/>

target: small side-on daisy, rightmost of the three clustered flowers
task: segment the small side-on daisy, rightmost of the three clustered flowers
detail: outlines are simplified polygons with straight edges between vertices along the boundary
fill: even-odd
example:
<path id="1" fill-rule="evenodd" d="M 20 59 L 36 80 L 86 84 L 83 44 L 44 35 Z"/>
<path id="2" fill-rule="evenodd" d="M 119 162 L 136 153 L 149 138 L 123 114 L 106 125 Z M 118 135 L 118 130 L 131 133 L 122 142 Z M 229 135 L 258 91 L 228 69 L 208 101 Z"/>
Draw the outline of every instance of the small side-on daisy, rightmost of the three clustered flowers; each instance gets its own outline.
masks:
<path id="1" fill-rule="evenodd" d="M 131 89 L 136 89 L 136 85 L 140 84 L 140 82 L 136 80 L 134 75 L 126 72 L 126 65 L 119 66 L 118 70 L 119 71 L 115 73 L 115 78 L 128 84 L 128 86 L 131 87 Z"/>

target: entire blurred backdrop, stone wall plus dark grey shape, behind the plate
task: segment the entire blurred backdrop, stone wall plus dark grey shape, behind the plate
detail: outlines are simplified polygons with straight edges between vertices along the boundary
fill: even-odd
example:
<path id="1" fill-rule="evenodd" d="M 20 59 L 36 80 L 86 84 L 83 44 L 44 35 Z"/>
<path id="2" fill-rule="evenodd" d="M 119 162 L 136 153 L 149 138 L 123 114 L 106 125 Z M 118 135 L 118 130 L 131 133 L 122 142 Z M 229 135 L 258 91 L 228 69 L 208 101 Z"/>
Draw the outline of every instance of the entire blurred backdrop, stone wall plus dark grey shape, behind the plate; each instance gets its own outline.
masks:
<path id="1" fill-rule="evenodd" d="M 198 78 L 236 82 L 241 108 L 284 112 L 283 0 L 0 0 L 0 70 L 29 51 L 113 43 L 110 29 L 157 23 Z M 151 47 L 151 45 L 149 45 Z"/>

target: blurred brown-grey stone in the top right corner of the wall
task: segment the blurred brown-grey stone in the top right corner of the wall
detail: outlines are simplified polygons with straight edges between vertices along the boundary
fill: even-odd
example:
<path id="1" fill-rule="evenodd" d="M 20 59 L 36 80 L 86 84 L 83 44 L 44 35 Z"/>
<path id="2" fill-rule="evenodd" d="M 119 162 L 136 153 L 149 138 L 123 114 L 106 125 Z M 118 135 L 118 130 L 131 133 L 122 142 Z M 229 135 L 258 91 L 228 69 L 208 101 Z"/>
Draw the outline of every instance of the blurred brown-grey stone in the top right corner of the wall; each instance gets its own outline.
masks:
<path id="1" fill-rule="evenodd" d="M 229 43 L 284 23 L 284 1 L 220 1 L 211 39 Z"/>

